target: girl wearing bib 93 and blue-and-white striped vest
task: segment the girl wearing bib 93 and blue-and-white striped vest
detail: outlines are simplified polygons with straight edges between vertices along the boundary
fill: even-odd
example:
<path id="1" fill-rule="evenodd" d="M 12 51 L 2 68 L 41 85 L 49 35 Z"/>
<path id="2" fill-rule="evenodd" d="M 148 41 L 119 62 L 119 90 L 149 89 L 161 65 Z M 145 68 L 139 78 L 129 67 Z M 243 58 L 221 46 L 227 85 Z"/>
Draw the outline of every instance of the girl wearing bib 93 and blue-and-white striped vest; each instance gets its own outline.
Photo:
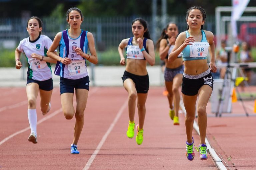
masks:
<path id="1" fill-rule="evenodd" d="M 98 63 L 92 33 L 81 30 L 83 15 L 80 9 L 70 8 L 67 11 L 67 22 L 70 28 L 59 32 L 47 51 L 47 54 L 57 60 L 55 75 L 60 76 L 60 97 L 64 116 L 76 123 L 74 138 L 71 144 L 71 154 L 79 154 L 77 143 L 84 125 L 84 110 L 89 92 L 89 76 L 86 61 Z M 60 54 L 53 51 L 59 46 Z M 90 50 L 91 55 L 87 54 Z M 74 89 L 76 92 L 76 109 L 73 105 Z"/>

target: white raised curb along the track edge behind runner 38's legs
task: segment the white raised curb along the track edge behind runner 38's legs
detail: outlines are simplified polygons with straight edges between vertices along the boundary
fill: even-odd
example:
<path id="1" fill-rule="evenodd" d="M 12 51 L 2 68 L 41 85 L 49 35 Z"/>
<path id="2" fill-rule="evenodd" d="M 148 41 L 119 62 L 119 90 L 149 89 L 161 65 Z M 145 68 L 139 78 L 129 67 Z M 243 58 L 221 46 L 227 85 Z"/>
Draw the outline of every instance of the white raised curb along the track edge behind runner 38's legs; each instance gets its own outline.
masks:
<path id="1" fill-rule="evenodd" d="M 187 112 L 185 110 L 185 106 L 184 106 L 182 100 L 180 101 L 180 107 L 181 107 L 182 111 L 184 112 L 184 115 L 186 116 Z M 198 127 L 198 124 L 196 121 L 194 121 L 193 127 L 196 130 L 196 132 L 200 135 L 199 127 Z M 207 139 L 207 136 L 206 136 L 205 142 L 207 145 L 208 153 L 211 155 L 212 159 L 214 160 L 214 162 L 215 162 L 216 166 L 219 168 L 219 170 L 227 170 L 225 165 L 222 163 L 222 160 L 220 159 L 220 157 L 216 154 L 215 150 L 211 147 L 211 145 Z"/>

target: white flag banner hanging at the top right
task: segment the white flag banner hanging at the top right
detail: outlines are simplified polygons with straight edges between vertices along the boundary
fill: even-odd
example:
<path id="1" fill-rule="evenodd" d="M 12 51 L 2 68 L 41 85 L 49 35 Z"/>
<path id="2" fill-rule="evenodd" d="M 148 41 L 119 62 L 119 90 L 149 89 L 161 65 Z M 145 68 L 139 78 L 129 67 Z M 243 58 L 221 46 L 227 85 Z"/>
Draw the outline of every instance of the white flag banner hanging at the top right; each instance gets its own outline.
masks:
<path id="1" fill-rule="evenodd" d="M 244 13 L 245 8 L 247 7 L 250 0 L 232 0 L 233 10 L 231 13 L 231 27 L 232 27 L 232 35 L 234 38 L 237 37 L 237 26 L 236 21 Z"/>

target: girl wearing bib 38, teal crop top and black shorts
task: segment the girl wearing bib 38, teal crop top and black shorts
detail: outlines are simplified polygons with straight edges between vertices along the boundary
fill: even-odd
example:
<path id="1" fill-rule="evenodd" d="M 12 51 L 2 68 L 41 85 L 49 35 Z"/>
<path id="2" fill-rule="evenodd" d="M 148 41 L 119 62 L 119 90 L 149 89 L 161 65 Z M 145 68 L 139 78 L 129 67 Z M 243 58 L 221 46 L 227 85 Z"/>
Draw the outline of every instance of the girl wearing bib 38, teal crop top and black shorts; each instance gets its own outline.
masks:
<path id="1" fill-rule="evenodd" d="M 196 100 L 198 97 L 198 126 L 200 131 L 200 159 L 208 158 L 205 143 L 207 113 L 206 105 L 213 89 L 212 72 L 216 72 L 214 58 L 213 34 L 204 31 L 206 13 L 201 7 L 191 7 L 187 11 L 187 31 L 177 37 L 174 48 L 169 55 L 168 62 L 173 62 L 180 53 L 185 64 L 182 78 L 182 98 L 187 112 L 185 118 L 187 142 L 186 156 L 188 160 L 194 159 L 194 139 L 192 137 L 193 123 L 195 119 Z M 207 63 L 207 54 L 210 51 L 210 69 Z"/>

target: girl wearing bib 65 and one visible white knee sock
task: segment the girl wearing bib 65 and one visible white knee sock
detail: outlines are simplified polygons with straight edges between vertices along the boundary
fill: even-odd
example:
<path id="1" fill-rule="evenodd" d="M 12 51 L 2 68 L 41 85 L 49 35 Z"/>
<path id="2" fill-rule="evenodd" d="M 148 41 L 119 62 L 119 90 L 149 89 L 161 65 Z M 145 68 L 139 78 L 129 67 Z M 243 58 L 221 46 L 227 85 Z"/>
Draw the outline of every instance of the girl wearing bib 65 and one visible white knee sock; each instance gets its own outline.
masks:
<path id="1" fill-rule="evenodd" d="M 20 41 L 15 50 L 16 69 L 22 67 L 20 62 L 21 53 L 25 53 L 28 61 L 26 92 L 28 98 L 28 121 L 31 133 L 28 141 L 37 143 L 37 113 L 36 98 L 40 94 L 40 108 L 42 114 L 47 114 L 51 109 L 52 96 L 52 70 L 50 63 L 56 63 L 47 57 L 46 51 L 52 44 L 49 37 L 42 35 L 42 21 L 38 17 L 31 17 L 27 22 L 28 38 Z"/>

